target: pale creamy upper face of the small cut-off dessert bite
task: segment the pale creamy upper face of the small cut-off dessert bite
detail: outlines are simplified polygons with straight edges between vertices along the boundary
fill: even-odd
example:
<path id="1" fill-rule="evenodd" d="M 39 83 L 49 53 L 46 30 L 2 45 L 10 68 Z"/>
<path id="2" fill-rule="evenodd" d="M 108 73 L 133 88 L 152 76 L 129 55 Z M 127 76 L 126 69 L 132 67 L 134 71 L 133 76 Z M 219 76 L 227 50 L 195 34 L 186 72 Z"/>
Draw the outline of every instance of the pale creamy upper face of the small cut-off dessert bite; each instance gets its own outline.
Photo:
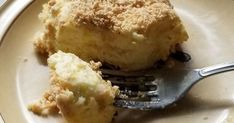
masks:
<path id="1" fill-rule="evenodd" d="M 49 57 L 48 64 L 61 79 L 67 82 L 85 86 L 96 86 L 101 82 L 100 75 L 93 71 L 88 63 L 71 53 L 59 51 Z"/>

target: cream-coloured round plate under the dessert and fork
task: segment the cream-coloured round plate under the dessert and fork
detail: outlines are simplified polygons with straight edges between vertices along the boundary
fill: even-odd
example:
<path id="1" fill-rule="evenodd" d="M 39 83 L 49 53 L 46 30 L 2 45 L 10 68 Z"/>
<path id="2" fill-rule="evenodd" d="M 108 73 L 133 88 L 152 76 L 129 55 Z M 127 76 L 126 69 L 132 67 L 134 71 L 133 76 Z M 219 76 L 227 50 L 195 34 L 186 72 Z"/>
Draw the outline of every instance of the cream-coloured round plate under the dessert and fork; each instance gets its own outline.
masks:
<path id="1" fill-rule="evenodd" d="M 26 108 L 49 87 L 48 68 L 32 45 L 35 33 L 41 28 L 37 15 L 42 3 L 44 0 L 34 1 L 6 33 L 7 28 L 0 32 L 0 39 L 5 34 L 0 46 L 0 113 L 6 123 L 63 122 L 60 116 L 39 117 Z M 234 61 L 233 0 L 173 0 L 173 4 L 190 35 L 183 47 L 192 60 L 185 67 Z M 8 27 L 15 15 L 8 15 L 3 27 Z M 233 116 L 234 72 L 229 72 L 202 80 L 175 107 L 151 112 L 122 110 L 115 122 L 233 123 Z"/>

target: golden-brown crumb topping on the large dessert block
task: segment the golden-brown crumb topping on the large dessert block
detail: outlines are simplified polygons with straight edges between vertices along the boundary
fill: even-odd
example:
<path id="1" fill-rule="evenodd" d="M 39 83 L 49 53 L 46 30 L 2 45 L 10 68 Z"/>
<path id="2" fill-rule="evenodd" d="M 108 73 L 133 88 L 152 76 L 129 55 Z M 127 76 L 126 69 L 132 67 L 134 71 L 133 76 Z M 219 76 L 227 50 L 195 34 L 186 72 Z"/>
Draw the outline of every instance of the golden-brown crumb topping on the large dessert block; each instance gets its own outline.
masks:
<path id="1" fill-rule="evenodd" d="M 59 3 L 62 1 L 64 3 Z M 174 10 L 169 0 L 57 0 L 57 2 L 63 6 L 62 11 L 70 9 L 69 12 L 60 14 L 63 16 L 67 13 L 70 17 L 65 18 L 75 21 L 75 24 L 91 24 L 119 33 L 142 34 L 151 24 L 165 18 L 176 17 L 175 14 L 171 14 Z M 49 3 L 51 7 L 56 6 L 55 0 Z"/>

